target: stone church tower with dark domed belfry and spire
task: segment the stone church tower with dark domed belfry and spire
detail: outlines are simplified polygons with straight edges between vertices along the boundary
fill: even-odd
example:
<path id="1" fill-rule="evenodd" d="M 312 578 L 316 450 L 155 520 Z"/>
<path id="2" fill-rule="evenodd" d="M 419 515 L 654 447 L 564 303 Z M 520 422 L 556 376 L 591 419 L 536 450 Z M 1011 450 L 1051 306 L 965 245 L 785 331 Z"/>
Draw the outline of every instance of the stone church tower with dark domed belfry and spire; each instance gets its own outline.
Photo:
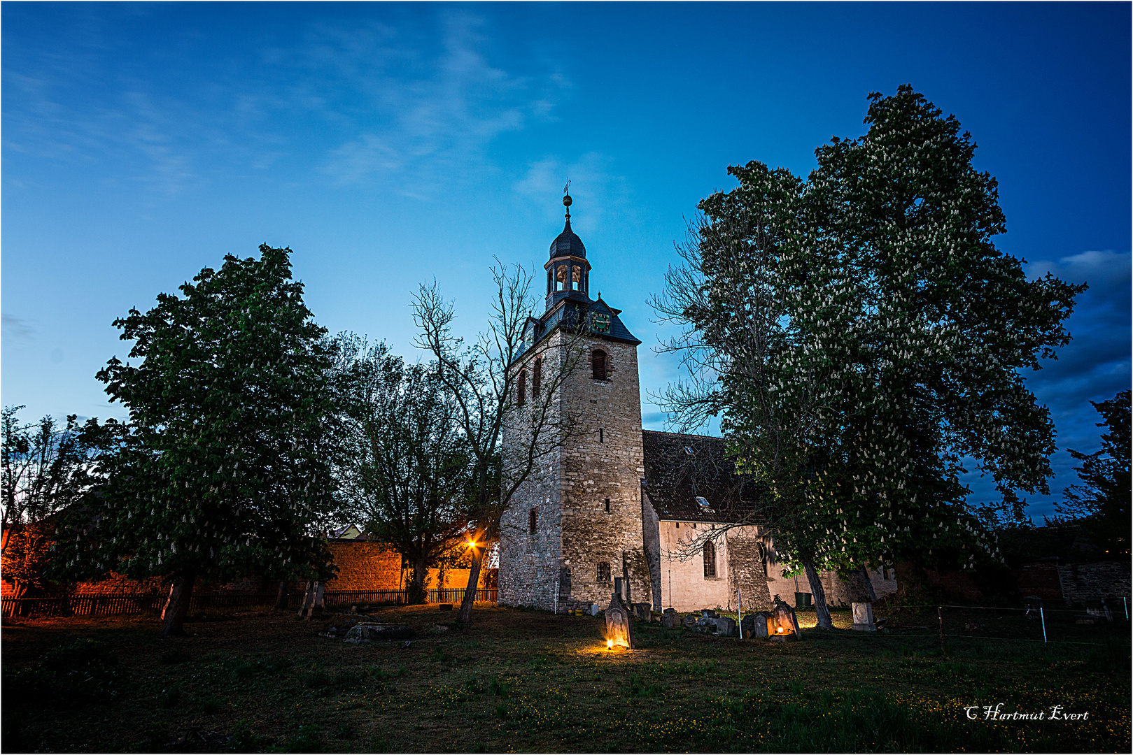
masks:
<path id="1" fill-rule="evenodd" d="M 653 602 L 642 543 L 641 393 L 637 346 L 619 319 L 621 310 L 590 299 L 590 263 L 570 226 L 551 243 L 546 310 L 528 321 L 525 351 L 512 369 L 533 379 L 535 360 L 565 360 L 581 348 L 581 363 L 553 397 L 577 431 L 555 449 L 512 498 L 500 527 L 500 603 L 540 609 L 605 606 L 614 577 L 623 577 L 632 602 Z M 562 324 L 587 323 L 585 333 Z M 538 344 L 538 349 L 534 349 Z M 538 357 L 537 357 L 538 355 Z M 504 453 L 516 438 L 504 437 Z"/>

